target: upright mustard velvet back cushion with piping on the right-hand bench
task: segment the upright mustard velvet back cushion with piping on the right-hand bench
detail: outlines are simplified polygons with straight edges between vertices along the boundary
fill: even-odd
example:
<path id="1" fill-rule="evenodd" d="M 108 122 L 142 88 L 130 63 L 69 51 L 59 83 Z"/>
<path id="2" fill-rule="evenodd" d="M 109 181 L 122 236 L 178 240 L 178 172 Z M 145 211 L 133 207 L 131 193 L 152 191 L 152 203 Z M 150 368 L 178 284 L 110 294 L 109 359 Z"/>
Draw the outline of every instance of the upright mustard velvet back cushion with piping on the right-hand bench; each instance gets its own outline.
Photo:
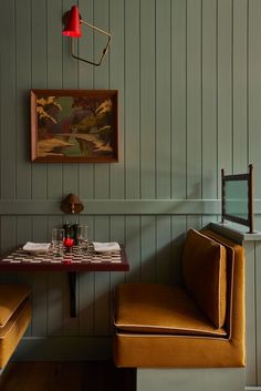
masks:
<path id="1" fill-rule="evenodd" d="M 227 303 L 226 248 L 190 229 L 184 247 L 182 272 L 190 296 L 217 328 L 222 327 Z"/>

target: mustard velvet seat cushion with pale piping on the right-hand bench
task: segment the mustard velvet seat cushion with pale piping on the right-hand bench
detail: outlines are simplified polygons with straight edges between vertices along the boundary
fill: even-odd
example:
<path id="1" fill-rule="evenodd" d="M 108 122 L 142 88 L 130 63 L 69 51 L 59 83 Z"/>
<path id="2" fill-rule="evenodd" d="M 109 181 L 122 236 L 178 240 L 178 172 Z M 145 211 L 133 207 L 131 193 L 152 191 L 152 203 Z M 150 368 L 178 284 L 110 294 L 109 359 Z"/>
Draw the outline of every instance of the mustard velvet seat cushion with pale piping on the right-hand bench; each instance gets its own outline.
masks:
<path id="1" fill-rule="evenodd" d="M 114 325 L 118 330 L 226 337 L 179 287 L 123 284 L 117 287 Z"/>

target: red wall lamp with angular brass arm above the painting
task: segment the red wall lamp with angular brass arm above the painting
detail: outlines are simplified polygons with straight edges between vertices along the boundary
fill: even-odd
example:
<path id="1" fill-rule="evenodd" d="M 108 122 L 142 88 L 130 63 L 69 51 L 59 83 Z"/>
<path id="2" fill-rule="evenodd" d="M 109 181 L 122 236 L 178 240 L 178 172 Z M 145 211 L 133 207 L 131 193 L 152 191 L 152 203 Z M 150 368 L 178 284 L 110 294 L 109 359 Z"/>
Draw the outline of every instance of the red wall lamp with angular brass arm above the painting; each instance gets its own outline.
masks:
<path id="1" fill-rule="evenodd" d="M 71 55 L 76 60 L 84 61 L 84 62 L 92 64 L 92 65 L 95 65 L 95 66 L 100 66 L 102 64 L 107 51 L 108 51 L 108 45 L 112 40 L 111 33 L 106 32 L 102 29 L 98 29 L 95 25 L 90 24 L 90 23 L 85 22 L 84 20 L 82 20 L 77 6 L 73 6 L 71 11 L 67 11 L 64 13 L 63 23 L 64 23 L 64 30 L 63 30 L 62 34 L 65 37 L 71 37 Z M 106 47 L 103 49 L 100 61 L 97 61 L 97 62 L 82 59 L 74 53 L 73 38 L 82 37 L 81 24 L 87 25 L 88 28 L 95 30 L 96 32 L 100 32 L 100 33 L 107 37 Z"/>

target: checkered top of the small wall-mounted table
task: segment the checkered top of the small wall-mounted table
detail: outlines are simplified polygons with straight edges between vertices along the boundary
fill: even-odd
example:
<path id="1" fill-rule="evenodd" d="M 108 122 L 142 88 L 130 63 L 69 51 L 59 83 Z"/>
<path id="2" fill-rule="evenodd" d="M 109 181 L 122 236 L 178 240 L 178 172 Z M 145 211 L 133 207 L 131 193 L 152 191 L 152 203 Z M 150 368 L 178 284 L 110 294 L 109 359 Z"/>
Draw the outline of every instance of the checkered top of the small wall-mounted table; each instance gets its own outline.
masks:
<path id="1" fill-rule="evenodd" d="M 8 266 L 10 266 L 10 269 L 14 269 L 15 265 L 17 267 L 27 266 L 28 268 L 30 268 L 30 266 L 31 268 L 35 266 L 35 269 L 38 265 L 39 266 L 44 265 L 46 267 L 60 265 L 64 267 L 67 266 L 70 268 L 77 268 L 79 266 L 81 269 L 86 269 L 86 270 L 87 269 L 95 270 L 95 265 L 97 266 L 97 270 L 98 270 L 98 265 L 101 265 L 102 269 L 107 269 L 107 270 L 128 269 L 126 254 L 123 247 L 121 247 L 119 251 L 113 251 L 113 253 L 95 253 L 92 246 L 90 246 L 88 249 L 84 251 L 80 250 L 77 247 L 73 247 L 72 253 L 64 251 L 63 257 L 55 257 L 53 255 L 52 248 L 48 253 L 30 254 L 24 251 L 21 246 L 14 249 L 13 251 L 2 256 L 0 260 L 0 269 L 7 269 Z M 118 265 L 118 268 L 117 268 L 117 265 Z"/>

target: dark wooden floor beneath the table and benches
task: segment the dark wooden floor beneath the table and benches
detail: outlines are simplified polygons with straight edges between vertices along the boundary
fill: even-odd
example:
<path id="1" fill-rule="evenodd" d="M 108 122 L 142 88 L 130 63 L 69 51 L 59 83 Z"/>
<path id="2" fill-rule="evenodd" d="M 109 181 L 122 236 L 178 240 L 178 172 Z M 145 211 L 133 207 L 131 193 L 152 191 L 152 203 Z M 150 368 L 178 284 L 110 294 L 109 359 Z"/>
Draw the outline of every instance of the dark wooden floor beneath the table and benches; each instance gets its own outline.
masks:
<path id="1" fill-rule="evenodd" d="M 112 362 L 11 362 L 1 391 L 135 391 L 135 371 Z"/>

